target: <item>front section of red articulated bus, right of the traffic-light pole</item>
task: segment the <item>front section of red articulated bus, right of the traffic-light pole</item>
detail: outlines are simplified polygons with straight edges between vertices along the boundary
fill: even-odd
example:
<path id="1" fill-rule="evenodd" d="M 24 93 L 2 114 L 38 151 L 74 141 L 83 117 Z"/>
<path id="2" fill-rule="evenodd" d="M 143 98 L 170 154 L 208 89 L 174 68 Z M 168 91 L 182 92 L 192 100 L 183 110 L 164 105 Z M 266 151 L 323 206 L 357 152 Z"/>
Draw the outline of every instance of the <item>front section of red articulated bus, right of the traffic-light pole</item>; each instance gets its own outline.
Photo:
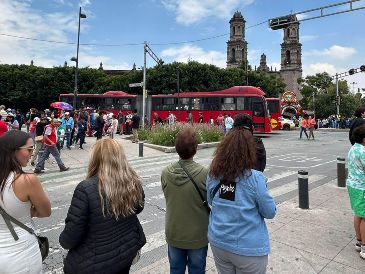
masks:
<path id="1" fill-rule="evenodd" d="M 157 113 L 165 120 L 169 112 L 181 122 L 187 122 L 188 112 L 191 112 L 195 123 L 199 114 L 203 115 L 204 123 L 208 123 L 211 118 L 216 121 L 220 114 L 230 114 L 234 118 L 237 113 L 246 113 L 253 119 L 255 132 L 271 132 L 265 93 L 257 87 L 235 86 L 211 92 L 152 95 L 151 119 Z"/>

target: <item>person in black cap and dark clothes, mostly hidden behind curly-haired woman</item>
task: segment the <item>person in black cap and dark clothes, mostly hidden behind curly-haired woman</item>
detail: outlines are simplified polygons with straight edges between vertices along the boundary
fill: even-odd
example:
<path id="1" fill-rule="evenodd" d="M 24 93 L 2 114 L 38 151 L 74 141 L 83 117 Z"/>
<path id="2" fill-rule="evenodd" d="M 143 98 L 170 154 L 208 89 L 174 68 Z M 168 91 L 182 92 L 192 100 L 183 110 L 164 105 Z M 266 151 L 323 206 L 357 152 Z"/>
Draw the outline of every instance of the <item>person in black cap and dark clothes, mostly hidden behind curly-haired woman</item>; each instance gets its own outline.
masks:
<path id="1" fill-rule="evenodd" d="M 234 118 L 233 127 L 241 127 L 247 129 L 253 134 L 253 121 L 250 115 L 237 114 Z M 264 172 L 266 167 L 266 149 L 261 138 L 254 136 L 256 142 L 256 165 L 255 169 Z"/>

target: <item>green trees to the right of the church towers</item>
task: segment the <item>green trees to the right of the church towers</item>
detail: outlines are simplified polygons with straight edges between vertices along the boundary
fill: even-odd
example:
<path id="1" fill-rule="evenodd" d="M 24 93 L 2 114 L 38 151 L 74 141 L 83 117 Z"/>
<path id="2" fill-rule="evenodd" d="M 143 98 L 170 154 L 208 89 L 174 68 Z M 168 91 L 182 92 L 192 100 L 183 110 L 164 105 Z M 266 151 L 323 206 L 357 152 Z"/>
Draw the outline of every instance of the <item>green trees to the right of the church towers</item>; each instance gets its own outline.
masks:
<path id="1" fill-rule="evenodd" d="M 318 118 L 325 118 L 337 113 L 336 107 L 336 82 L 328 73 L 317 73 L 304 79 L 300 79 L 301 94 L 300 101 L 304 109 L 315 110 Z M 351 117 L 361 104 L 361 96 L 352 94 L 346 80 L 339 80 L 338 91 L 340 96 L 340 115 Z M 313 100 L 314 98 L 314 100 Z"/>

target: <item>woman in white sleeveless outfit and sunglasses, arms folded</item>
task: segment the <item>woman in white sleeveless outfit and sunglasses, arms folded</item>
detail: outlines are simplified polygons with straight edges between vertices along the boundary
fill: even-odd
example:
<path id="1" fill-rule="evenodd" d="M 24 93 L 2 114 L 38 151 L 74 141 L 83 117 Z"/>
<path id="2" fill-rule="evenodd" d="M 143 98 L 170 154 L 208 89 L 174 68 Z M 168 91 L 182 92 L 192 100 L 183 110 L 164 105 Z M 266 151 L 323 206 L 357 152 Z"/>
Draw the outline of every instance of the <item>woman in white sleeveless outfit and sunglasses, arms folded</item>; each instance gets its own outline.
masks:
<path id="1" fill-rule="evenodd" d="M 32 217 L 51 215 L 51 204 L 39 179 L 25 173 L 33 153 L 28 133 L 15 130 L 0 137 L 0 206 L 12 217 L 34 229 Z M 42 273 L 42 257 L 36 237 L 13 224 L 15 241 L 0 215 L 0 273 Z"/>

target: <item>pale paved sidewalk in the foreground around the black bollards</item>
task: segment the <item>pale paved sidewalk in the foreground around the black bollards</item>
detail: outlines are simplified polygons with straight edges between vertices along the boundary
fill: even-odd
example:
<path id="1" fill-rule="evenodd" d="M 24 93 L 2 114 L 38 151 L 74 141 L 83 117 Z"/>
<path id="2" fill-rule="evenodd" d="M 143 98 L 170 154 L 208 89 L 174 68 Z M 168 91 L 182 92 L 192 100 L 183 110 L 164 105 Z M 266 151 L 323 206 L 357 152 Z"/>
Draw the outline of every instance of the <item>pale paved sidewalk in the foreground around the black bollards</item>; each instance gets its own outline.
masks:
<path id="1" fill-rule="evenodd" d="M 267 220 L 271 254 L 267 273 L 364 273 L 365 261 L 354 249 L 353 214 L 347 190 L 331 181 L 309 192 L 309 210 L 294 198 L 278 205 Z M 166 251 L 167 254 L 167 251 Z M 209 249 L 207 272 L 217 273 Z M 168 273 L 168 259 L 134 273 Z"/>

